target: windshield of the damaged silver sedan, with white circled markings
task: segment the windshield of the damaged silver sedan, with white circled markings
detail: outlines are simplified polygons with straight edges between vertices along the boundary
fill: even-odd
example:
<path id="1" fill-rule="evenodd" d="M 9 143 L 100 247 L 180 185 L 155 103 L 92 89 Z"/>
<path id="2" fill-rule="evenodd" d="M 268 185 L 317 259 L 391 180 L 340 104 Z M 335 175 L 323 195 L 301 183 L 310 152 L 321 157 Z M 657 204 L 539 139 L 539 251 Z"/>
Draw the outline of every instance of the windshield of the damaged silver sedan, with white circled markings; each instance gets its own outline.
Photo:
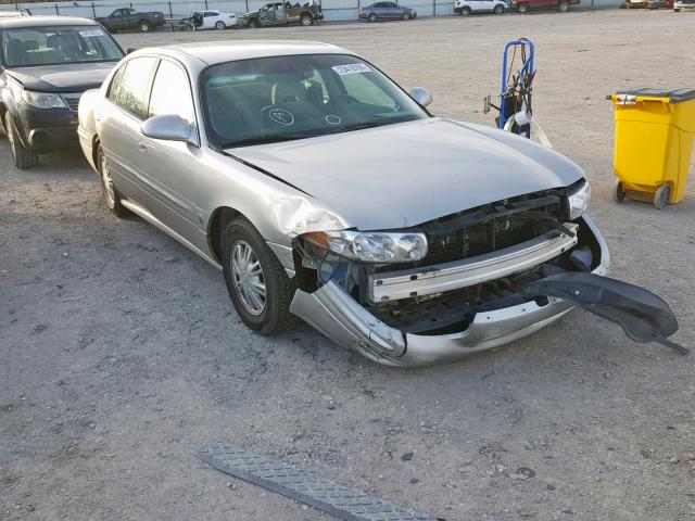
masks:
<path id="1" fill-rule="evenodd" d="M 356 56 L 316 54 L 223 63 L 201 77 L 213 145 L 326 136 L 428 117 L 393 81 Z"/>

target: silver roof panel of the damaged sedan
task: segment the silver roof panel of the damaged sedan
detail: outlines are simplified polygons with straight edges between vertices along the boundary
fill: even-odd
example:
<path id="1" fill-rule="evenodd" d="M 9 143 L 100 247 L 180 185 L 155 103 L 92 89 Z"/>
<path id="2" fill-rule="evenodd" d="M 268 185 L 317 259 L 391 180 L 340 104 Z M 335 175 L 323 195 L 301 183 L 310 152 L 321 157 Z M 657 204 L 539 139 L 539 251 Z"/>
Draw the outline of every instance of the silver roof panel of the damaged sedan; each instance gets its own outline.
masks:
<path id="1" fill-rule="evenodd" d="M 138 53 L 197 58 L 208 65 L 249 60 L 254 58 L 289 56 L 293 54 L 354 54 L 346 49 L 319 41 L 286 40 L 233 40 L 178 43 L 159 48 L 149 48 Z"/>

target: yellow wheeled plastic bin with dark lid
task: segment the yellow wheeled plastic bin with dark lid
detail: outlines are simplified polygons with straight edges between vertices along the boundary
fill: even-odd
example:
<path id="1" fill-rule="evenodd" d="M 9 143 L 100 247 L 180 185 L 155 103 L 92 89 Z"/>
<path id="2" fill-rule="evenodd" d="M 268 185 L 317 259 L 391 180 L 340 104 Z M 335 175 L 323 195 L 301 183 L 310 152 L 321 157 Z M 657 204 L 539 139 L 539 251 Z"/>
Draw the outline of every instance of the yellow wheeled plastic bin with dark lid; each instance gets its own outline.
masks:
<path id="1" fill-rule="evenodd" d="M 616 115 L 614 201 L 654 198 L 662 208 L 683 200 L 695 137 L 695 89 L 636 89 L 610 97 Z"/>

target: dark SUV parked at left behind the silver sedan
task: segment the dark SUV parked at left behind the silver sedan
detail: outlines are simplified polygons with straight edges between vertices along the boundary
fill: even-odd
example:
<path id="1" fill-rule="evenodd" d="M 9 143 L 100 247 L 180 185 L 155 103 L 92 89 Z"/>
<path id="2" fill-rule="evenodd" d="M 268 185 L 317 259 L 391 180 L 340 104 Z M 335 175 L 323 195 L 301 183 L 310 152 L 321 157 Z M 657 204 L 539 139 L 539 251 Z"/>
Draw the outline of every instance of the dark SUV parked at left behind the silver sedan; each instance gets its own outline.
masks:
<path id="1" fill-rule="evenodd" d="M 77 144 L 77 106 L 124 52 L 93 20 L 0 18 L 0 118 L 18 168 Z"/>

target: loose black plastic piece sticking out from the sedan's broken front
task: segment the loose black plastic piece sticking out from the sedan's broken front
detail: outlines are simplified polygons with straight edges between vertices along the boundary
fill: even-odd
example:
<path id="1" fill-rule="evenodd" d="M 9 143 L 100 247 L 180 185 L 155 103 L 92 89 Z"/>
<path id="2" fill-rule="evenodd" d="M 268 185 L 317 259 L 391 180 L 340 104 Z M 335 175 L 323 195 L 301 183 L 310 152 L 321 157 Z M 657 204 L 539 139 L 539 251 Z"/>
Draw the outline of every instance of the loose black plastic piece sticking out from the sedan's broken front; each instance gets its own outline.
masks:
<path id="1" fill-rule="evenodd" d="M 654 293 L 628 282 L 568 272 L 531 282 L 521 294 L 563 298 L 617 323 L 635 342 L 658 342 L 679 353 L 690 353 L 690 348 L 668 340 L 678 331 L 678 320 L 669 305 Z"/>

